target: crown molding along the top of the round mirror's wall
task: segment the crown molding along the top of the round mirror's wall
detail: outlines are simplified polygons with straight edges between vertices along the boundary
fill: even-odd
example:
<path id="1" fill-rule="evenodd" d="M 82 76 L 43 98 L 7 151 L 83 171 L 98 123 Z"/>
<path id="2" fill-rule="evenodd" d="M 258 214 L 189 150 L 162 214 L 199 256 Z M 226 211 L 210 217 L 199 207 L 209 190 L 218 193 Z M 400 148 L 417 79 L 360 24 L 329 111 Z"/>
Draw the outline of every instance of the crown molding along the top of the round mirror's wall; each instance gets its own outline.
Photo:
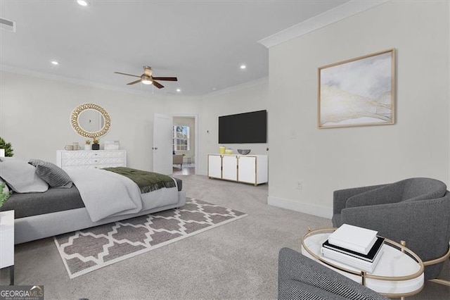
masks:
<path id="1" fill-rule="evenodd" d="M 65 77 L 65 76 L 61 76 L 61 75 L 55 75 L 55 74 L 50 74 L 50 73 L 38 72 L 38 71 L 34 71 L 34 70 L 17 68 L 17 67 L 13 67 L 11 65 L 0 65 L 0 71 L 15 73 L 15 74 L 19 74 L 19 75 L 27 75 L 27 76 L 31 76 L 31 77 L 46 79 L 46 80 L 54 80 L 54 81 L 58 81 L 58 82 L 66 82 L 66 83 L 71 83 L 73 85 L 84 85 L 87 87 L 97 87 L 100 89 L 109 89 L 109 90 L 116 91 L 116 92 L 124 92 L 127 94 L 134 94 L 134 95 L 138 95 L 138 96 L 154 96 L 155 98 L 159 98 L 159 99 L 165 99 L 167 97 L 167 95 L 165 95 L 165 94 L 155 94 L 153 92 L 143 91 L 143 90 L 141 90 L 141 91 L 130 90 L 130 89 L 126 89 L 123 87 L 116 87 L 114 85 L 105 85 L 103 83 L 91 82 L 88 80 L 82 80 L 82 79 L 77 79 L 77 78 L 72 78 L 72 77 Z"/>

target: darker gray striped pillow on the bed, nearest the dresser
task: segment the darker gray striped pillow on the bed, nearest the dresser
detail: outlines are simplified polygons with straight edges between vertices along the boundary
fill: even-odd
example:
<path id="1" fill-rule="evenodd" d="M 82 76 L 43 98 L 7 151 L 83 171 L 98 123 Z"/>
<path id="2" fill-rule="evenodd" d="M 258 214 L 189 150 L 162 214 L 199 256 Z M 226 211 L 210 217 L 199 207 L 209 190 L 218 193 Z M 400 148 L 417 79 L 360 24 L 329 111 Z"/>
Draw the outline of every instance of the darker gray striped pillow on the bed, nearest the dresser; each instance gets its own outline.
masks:
<path id="1" fill-rule="evenodd" d="M 63 169 L 49 163 L 48 161 L 41 161 L 40 159 L 30 159 L 28 162 L 36 167 L 36 173 L 42 180 L 47 182 L 51 187 L 70 189 L 72 187 L 72 180 L 68 173 Z"/>

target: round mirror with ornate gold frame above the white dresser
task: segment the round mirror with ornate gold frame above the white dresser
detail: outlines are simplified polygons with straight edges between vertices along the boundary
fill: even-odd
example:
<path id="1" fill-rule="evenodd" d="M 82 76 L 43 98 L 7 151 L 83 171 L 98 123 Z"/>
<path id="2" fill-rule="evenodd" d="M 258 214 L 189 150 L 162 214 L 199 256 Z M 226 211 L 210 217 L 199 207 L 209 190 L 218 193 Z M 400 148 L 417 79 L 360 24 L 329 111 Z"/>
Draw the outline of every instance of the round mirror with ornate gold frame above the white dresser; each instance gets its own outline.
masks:
<path id="1" fill-rule="evenodd" d="M 101 137 L 108 133 L 111 119 L 103 107 L 86 103 L 72 111 L 70 123 L 73 129 L 82 137 Z"/>

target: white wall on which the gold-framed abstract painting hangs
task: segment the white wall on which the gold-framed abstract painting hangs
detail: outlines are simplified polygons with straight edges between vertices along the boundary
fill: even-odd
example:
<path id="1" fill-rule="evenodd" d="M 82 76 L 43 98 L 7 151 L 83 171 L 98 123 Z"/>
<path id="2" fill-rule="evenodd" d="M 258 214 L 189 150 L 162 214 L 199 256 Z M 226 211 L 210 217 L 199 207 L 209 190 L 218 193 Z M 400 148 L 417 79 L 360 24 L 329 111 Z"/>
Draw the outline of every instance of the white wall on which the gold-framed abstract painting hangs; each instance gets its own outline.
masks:
<path id="1" fill-rule="evenodd" d="M 448 6 L 390 1 L 269 50 L 269 204 L 330 217 L 335 189 L 449 182 Z M 317 68 L 390 48 L 396 124 L 317 129 Z"/>

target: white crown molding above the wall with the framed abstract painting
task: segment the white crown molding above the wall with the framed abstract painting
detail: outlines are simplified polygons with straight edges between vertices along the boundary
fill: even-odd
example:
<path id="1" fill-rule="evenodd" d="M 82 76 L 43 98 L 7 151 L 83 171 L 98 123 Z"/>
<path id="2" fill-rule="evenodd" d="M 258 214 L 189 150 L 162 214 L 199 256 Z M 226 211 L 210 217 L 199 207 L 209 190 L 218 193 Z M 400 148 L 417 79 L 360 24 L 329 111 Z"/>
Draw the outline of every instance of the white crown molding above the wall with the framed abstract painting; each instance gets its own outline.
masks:
<path id="1" fill-rule="evenodd" d="M 309 32 L 313 32 L 314 30 L 318 30 L 322 27 L 339 22 L 340 20 L 344 20 L 345 18 L 349 18 L 352 15 L 367 11 L 375 6 L 379 6 L 380 4 L 385 4 L 388 1 L 390 0 L 352 0 L 346 2 L 345 4 L 341 4 L 340 6 L 336 6 L 329 11 L 321 13 L 320 15 L 315 15 L 302 23 L 288 27 L 281 32 L 275 33 L 274 35 L 260 39 L 258 43 L 266 46 L 266 48 L 271 48 L 284 42 L 288 42 L 290 39 L 301 37 Z"/>

